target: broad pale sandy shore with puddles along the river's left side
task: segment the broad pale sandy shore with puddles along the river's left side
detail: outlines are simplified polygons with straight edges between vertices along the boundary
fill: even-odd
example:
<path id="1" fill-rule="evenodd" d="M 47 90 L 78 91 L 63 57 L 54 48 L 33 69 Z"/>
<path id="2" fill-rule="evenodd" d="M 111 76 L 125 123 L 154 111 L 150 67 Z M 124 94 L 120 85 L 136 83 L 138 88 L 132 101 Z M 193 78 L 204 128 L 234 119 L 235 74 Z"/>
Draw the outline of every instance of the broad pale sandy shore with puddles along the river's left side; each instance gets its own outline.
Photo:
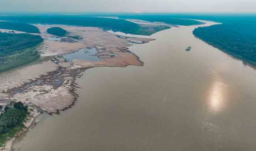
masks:
<path id="1" fill-rule="evenodd" d="M 10 101 L 21 101 L 29 108 L 41 108 L 49 114 L 70 108 L 79 97 L 75 93 L 79 88 L 76 79 L 85 70 L 100 66 L 125 67 L 128 65 L 143 66 L 143 62 L 128 47 L 134 43 L 148 43 L 155 39 L 117 36 L 94 27 L 76 27 L 65 25 L 35 25 L 39 28 L 44 39 L 37 49 L 41 53 L 41 63 L 35 63 L 14 71 L 0 74 L 0 104 L 6 105 Z M 50 27 L 62 27 L 70 35 L 80 36 L 81 39 L 57 37 L 47 33 Z M 9 31 L 1 30 L 0 31 Z M 15 33 L 23 33 L 15 31 Z M 52 40 L 56 39 L 56 40 Z M 74 53 L 83 48 L 95 48 L 95 56 L 101 61 L 74 59 L 66 61 L 61 56 Z M 15 138 L 24 133 L 39 115 L 37 111 L 30 111 L 25 129 L 14 138 L 6 142 L 3 151 L 10 151 Z"/>

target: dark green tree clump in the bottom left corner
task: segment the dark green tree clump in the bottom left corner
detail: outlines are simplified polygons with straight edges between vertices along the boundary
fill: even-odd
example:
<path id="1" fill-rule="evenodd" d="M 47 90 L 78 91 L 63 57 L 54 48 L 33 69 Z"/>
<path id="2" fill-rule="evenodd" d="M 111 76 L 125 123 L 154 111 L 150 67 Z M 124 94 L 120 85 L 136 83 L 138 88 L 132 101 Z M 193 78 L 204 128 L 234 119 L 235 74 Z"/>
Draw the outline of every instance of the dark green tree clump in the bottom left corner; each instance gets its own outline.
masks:
<path id="1" fill-rule="evenodd" d="M 5 112 L 0 115 L 0 147 L 3 147 L 7 140 L 24 128 L 23 122 L 28 115 L 28 107 L 22 102 L 5 107 Z"/>

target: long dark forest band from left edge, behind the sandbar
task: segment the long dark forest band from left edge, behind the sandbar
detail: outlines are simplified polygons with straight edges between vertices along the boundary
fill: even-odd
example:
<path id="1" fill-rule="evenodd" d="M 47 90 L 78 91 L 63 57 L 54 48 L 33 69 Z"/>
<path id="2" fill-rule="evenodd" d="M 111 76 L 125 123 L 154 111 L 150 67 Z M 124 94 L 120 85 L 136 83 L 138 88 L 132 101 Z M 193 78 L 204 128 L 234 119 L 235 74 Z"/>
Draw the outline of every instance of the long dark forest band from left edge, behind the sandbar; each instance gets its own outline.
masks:
<path id="1" fill-rule="evenodd" d="M 22 23 L 65 24 L 85 27 L 100 27 L 105 30 L 121 31 L 129 34 L 139 32 L 140 26 L 123 19 L 99 18 L 76 15 L 36 15 L 36 16 L 0 16 L 0 20 Z"/>

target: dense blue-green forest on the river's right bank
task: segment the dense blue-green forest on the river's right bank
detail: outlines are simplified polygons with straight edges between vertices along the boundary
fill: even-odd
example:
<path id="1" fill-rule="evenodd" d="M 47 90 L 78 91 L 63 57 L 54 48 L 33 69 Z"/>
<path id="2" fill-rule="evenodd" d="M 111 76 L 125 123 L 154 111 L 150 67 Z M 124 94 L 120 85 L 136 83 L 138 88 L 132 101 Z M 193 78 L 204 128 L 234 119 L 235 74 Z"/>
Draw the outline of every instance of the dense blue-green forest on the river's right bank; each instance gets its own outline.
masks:
<path id="1" fill-rule="evenodd" d="M 214 21 L 223 24 L 199 27 L 194 36 L 239 59 L 256 65 L 256 17 L 221 16 Z"/>

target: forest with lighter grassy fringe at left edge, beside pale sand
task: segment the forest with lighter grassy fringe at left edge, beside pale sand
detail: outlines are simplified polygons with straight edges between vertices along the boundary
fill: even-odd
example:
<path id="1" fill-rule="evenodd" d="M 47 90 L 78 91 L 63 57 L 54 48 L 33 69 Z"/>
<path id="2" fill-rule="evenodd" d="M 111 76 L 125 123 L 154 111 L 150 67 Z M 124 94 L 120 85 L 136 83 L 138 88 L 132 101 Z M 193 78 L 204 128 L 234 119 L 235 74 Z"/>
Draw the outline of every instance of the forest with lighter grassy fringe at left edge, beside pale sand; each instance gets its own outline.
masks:
<path id="1" fill-rule="evenodd" d="M 0 71 L 38 59 L 35 47 L 42 41 L 38 35 L 0 33 Z"/>

